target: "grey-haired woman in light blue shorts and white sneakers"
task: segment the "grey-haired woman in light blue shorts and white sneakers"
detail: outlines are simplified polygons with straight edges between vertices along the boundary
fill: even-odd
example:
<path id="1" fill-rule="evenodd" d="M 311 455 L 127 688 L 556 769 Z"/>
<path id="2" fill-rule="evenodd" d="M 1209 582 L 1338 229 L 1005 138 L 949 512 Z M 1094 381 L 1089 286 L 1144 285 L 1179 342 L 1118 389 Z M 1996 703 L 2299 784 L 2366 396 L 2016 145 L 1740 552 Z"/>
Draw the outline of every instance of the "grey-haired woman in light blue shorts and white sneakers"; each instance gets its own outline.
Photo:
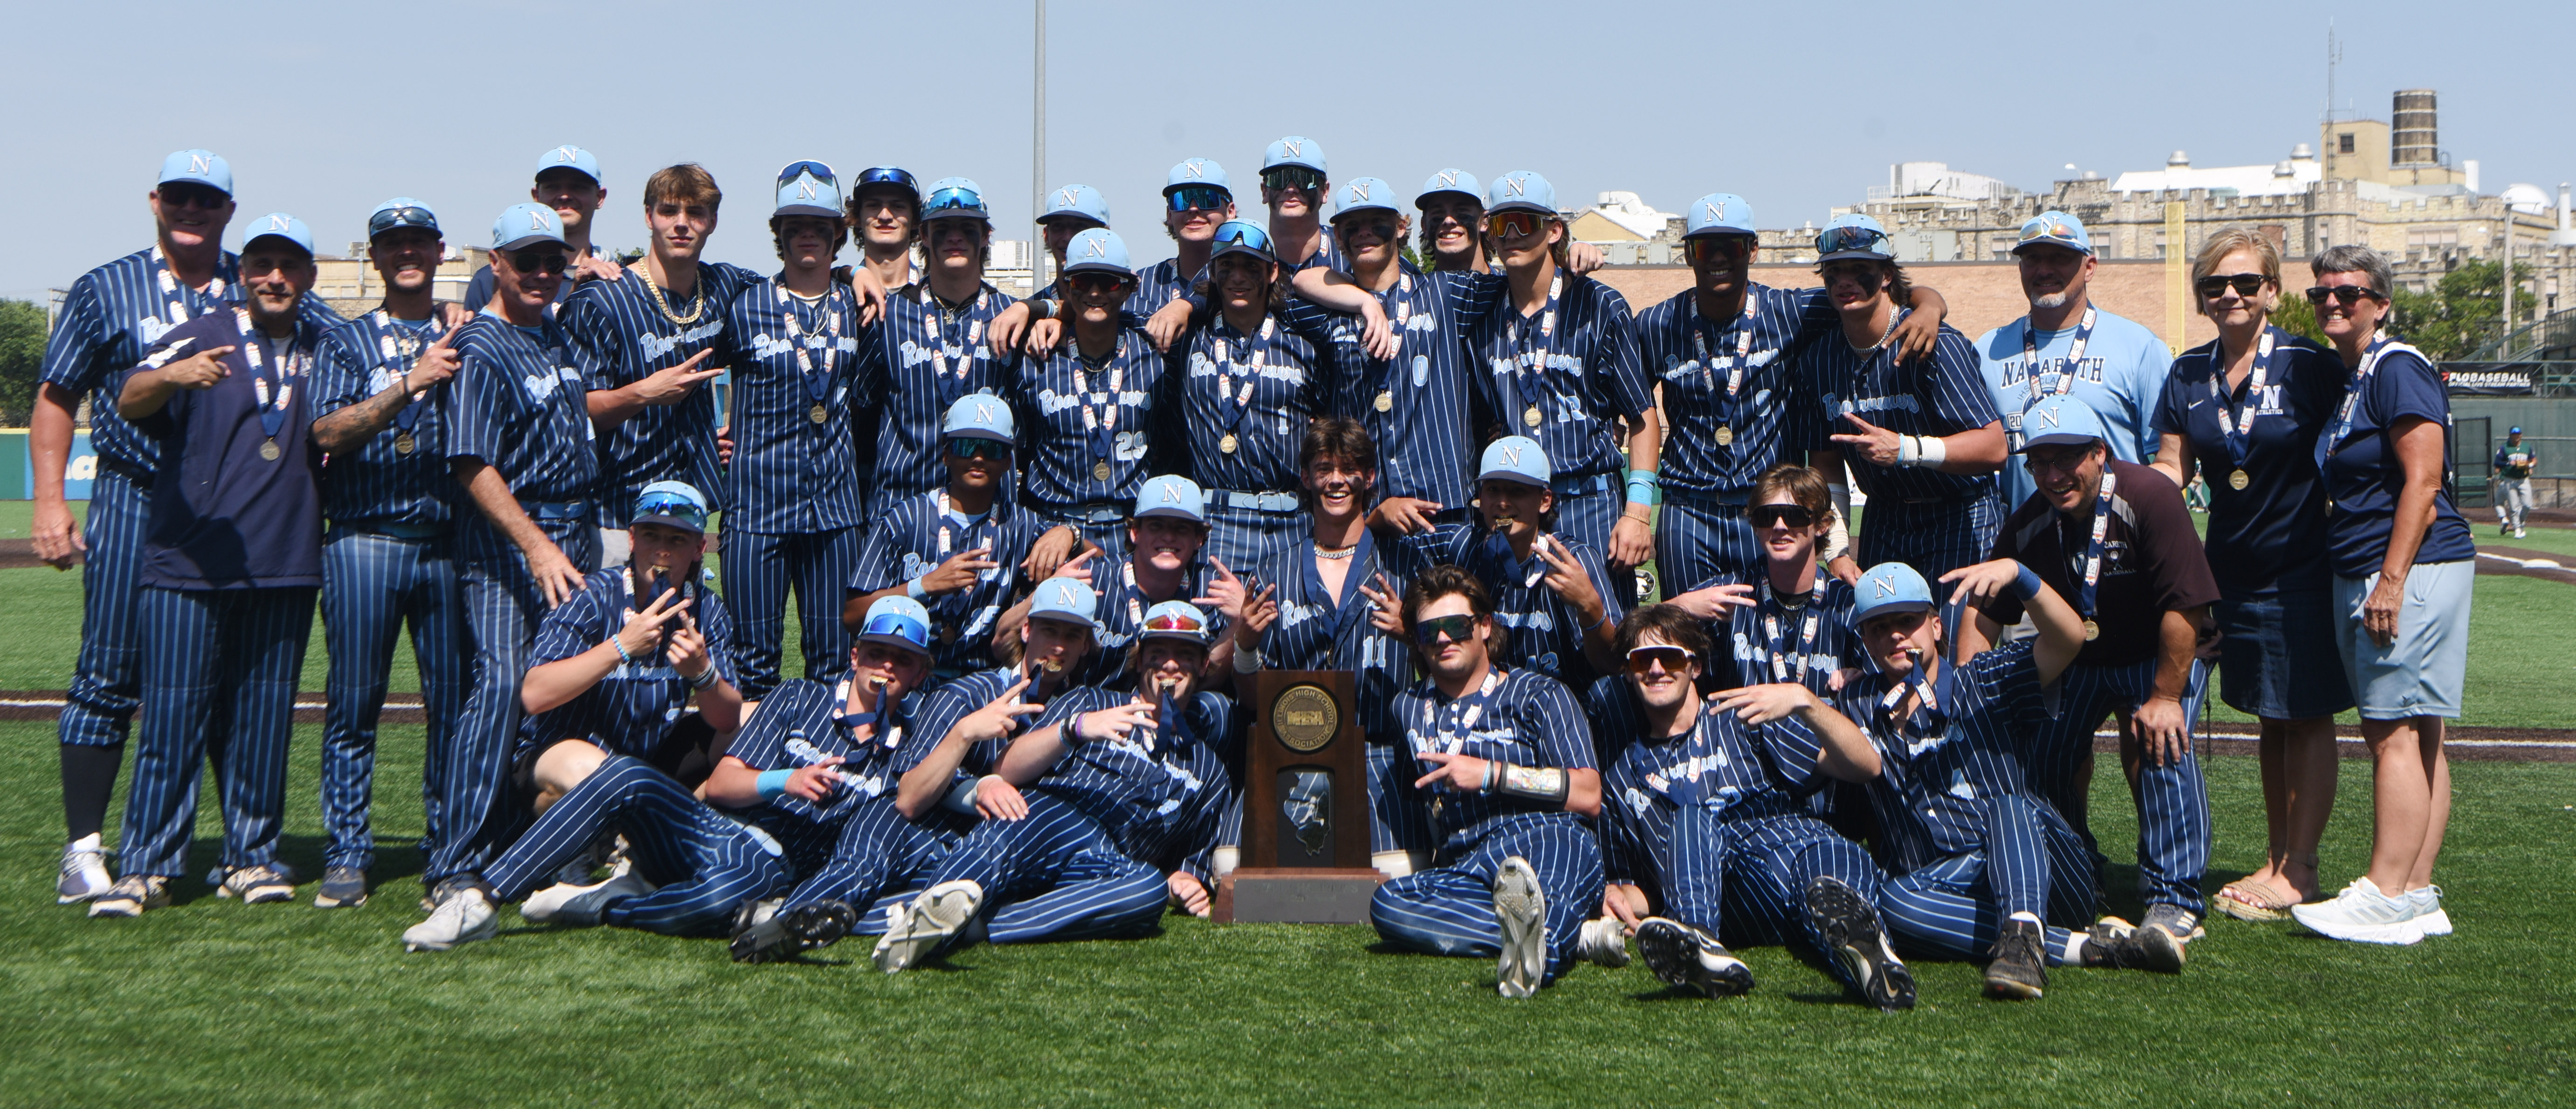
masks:
<path id="1" fill-rule="evenodd" d="M 2450 395 L 2421 351 L 2391 338 L 2388 260 L 2370 248 L 2318 253 L 2316 322 L 2352 369 L 2318 446 L 2334 645 L 2362 709 L 2372 763 L 2370 872 L 2290 916 L 2331 939 L 2414 944 L 2447 936 L 2432 885 L 2450 823 L 2442 722 L 2460 714 L 2478 549 L 2445 490 Z"/>

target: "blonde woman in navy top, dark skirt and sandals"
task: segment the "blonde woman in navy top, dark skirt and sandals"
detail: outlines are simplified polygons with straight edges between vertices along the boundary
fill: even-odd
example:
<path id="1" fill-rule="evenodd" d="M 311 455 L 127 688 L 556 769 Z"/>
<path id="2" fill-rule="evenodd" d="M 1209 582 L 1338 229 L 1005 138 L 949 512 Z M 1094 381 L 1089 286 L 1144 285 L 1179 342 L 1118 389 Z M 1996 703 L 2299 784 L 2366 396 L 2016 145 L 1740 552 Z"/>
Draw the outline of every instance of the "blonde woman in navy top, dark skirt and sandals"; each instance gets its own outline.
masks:
<path id="1" fill-rule="evenodd" d="M 2192 291 L 2218 338 L 2174 358 L 2156 405 L 2156 469 L 2197 472 L 2210 495 L 2208 562 L 2218 578 L 2218 691 L 2262 720 L 2269 849 L 2262 869 L 2213 905 L 2282 921 L 2318 895 L 2316 843 L 2334 810 L 2334 714 L 2352 707 L 2336 658 L 2326 485 L 2316 438 L 2344 402 L 2334 351 L 2269 325 L 2280 248 L 2244 227 L 2210 235 Z"/>

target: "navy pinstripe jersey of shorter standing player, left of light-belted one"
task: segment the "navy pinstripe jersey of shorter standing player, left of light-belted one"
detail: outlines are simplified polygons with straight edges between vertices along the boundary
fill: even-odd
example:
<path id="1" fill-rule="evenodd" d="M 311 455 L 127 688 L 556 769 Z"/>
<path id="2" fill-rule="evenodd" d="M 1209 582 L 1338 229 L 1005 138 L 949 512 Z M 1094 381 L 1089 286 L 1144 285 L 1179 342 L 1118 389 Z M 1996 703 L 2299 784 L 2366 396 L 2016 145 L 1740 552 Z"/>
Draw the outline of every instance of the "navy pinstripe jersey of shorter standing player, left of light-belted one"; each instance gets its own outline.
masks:
<path id="1" fill-rule="evenodd" d="M 1164 358 L 1144 330 L 1121 328 L 1108 358 L 1087 361 L 1072 335 L 1051 356 L 1020 358 L 1010 400 L 1020 426 L 1020 490 L 1036 508 L 1136 503 L 1151 456 Z M 1115 418 L 1110 418 L 1115 413 Z M 1113 423 L 1115 426 L 1108 426 Z M 1095 477 L 1100 462 L 1110 477 Z"/>

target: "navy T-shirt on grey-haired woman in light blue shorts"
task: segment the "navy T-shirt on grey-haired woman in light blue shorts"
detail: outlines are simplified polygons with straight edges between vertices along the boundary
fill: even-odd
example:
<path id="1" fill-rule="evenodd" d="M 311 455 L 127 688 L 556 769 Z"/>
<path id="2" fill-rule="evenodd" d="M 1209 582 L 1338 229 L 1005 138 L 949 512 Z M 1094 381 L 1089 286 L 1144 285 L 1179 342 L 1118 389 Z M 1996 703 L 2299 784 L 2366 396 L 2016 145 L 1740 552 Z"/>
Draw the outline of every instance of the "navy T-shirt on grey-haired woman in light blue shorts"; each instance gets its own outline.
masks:
<path id="1" fill-rule="evenodd" d="M 2388 557 L 2388 529 L 2396 526 L 2398 490 L 2406 487 L 2406 469 L 2398 467 L 2391 428 L 2406 418 L 2442 426 L 2447 456 L 2450 392 L 2442 389 L 2442 374 L 2411 346 L 2393 343 L 2378 364 L 2370 364 L 2370 374 L 2352 382 L 2342 420 L 2326 428 L 2318 446 L 2329 498 L 2326 547 L 2339 578 L 2370 578 Z M 2460 518 L 2447 490 L 2434 493 L 2432 529 L 2416 547 L 2416 565 L 2468 557 L 2478 557 L 2478 547 L 2468 539 L 2468 521 Z"/>

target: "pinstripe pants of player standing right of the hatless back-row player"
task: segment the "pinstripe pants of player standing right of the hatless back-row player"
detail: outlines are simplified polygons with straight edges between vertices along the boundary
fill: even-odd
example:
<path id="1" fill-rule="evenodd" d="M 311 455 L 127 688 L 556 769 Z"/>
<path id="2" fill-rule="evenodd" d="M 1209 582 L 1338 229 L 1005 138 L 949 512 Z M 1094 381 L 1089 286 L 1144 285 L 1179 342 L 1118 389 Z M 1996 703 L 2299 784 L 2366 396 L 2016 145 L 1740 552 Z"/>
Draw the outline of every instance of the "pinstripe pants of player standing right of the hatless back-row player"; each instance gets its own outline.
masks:
<path id="1" fill-rule="evenodd" d="M 840 627 L 840 606 L 850 598 L 850 573 L 866 531 L 832 529 L 806 534 L 768 534 L 724 529 L 724 606 L 734 614 L 734 673 L 742 699 L 757 702 L 778 689 L 778 655 L 786 637 L 788 588 L 796 591 L 796 632 L 804 642 L 806 678 L 840 681 L 850 668 L 850 634 Z"/>

